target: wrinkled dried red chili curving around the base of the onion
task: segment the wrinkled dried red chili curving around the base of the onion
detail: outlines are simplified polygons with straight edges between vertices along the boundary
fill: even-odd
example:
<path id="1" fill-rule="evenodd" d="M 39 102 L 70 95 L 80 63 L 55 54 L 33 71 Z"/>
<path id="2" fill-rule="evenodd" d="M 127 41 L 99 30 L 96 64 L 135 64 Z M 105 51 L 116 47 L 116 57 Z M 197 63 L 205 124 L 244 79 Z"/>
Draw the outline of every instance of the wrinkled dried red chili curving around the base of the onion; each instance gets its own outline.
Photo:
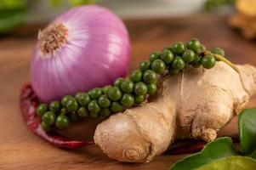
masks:
<path id="1" fill-rule="evenodd" d="M 20 108 L 23 119 L 26 122 L 26 126 L 31 132 L 37 134 L 37 136 L 59 148 L 75 149 L 88 144 L 94 144 L 94 142 L 92 141 L 77 141 L 66 139 L 65 137 L 60 136 L 60 134 L 57 133 L 45 133 L 40 126 L 40 117 L 37 116 L 38 104 L 39 101 L 31 87 L 31 84 L 26 84 L 21 89 Z"/>

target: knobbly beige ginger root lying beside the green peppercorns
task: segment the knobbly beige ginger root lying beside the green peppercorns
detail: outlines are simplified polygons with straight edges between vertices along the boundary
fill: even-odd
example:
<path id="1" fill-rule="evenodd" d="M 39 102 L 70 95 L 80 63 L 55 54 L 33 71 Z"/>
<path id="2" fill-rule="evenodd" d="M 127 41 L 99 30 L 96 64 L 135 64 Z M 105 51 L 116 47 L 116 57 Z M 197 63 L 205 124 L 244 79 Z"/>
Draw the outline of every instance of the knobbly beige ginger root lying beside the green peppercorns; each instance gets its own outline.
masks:
<path id="1" fill-rule="evenodd" d="M 118 161 L 147 162 L 175 139 L 210 142 L 256 93 L 256 68 L 219 61 L 213 69 L 188 68 L 163 77 L 157 94 L 145 105 L 101 122 L 95 144 Z"/>

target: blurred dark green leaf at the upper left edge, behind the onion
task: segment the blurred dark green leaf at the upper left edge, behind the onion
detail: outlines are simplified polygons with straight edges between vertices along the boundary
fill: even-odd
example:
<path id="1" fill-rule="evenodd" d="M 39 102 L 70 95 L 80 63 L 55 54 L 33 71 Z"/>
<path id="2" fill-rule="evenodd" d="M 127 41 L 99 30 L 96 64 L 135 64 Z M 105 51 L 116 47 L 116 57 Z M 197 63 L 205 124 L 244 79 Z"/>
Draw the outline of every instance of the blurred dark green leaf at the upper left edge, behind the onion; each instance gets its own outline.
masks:
<path id="1" fill-rule="evenodd" d="M 26 10 L 2 10 L 0 11 L 0 34 L 13 31 L 26 21 Z"/>

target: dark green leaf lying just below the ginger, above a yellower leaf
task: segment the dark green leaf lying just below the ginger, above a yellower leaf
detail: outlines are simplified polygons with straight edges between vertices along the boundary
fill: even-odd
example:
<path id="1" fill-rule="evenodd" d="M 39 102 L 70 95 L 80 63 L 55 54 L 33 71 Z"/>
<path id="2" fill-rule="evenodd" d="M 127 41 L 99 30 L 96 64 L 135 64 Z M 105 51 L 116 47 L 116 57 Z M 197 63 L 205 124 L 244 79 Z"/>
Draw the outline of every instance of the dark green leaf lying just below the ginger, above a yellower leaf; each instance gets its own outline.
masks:
<path id="1" fill-rule="evenodd" d="M 237 156 L 232 139 L 229 137 L 219 138 L 208 143 L 201 152 L 177 161 L 170 170 L 191 170 L 230 156 Z"/>

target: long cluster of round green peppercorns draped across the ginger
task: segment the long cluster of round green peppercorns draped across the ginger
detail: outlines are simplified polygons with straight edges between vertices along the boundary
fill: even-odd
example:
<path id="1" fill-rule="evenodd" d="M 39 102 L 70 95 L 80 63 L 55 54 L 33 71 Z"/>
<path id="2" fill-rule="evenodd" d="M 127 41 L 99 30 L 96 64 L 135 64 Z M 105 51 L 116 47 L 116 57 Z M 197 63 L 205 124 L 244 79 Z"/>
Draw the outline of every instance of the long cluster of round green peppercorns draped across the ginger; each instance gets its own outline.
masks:
<path id="1" fill-rule="evenodd" d="M 209 52 L 196 38 L 186 44 L 175 42 L 162 52 L 152 53 L 150 59 L 140 63 L 138 70 L 130 72 L 127 78 L 117 78 L 113 85 L 93 88 L 87 93 L 79 92 L 75 96 L 66 95 L 61 101 L 39 105 L 37 114 L 42 118 L 41 126 L 48 132 L 53 127 L 68 127 L 70 122 L 84 117 L 110 116 L 139 105 L 147 96 L 156 94 L 160 76 L 177 74 L 188 66 L 198 68 L 202 65 L 211 69 L 216 63 L 214 54 L 224 56 L 225 52 L 221 48 Z"/>

